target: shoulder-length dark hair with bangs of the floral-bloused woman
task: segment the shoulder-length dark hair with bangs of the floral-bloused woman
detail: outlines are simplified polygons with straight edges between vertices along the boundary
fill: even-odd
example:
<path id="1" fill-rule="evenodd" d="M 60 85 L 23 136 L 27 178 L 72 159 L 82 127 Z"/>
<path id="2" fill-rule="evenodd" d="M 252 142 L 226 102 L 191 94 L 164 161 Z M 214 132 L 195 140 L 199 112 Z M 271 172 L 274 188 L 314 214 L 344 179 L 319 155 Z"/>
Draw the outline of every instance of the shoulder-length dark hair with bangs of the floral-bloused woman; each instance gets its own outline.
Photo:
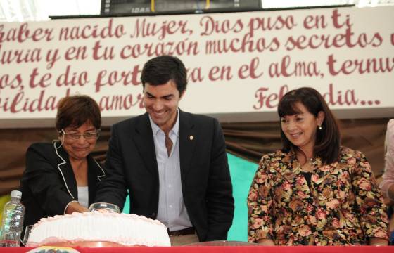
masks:
<path id="1" fill-rule="evenodd" d="M 338 161 L 341 134 L 339 132 L 338 122 L 333 116 L 323 96 L 310 87 L 303 87 L 288 91 L 280 100 L 278 105 L 279 117 L 295 115 L 300 113 L 295 105 L 302 103 L 308 112 L 317 117 L 319 112 L 324 112 L 324 121 L 322 129 L 316 131 L 316 143 L 314 143 L 314 155 L 322 159 L 322 164 L 331 164 Z M 298 148 L 286 138 L 284 131 L 281 129 L 282 150 L 289 152 L 291 149 Z"/>

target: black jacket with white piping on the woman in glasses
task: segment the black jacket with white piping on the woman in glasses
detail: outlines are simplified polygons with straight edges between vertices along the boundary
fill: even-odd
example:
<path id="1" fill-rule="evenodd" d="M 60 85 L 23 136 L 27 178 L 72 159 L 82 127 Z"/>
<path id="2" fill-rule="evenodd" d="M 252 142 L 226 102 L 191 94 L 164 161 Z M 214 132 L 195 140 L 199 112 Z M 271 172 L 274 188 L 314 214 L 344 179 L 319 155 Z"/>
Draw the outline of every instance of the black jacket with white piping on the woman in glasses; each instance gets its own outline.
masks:
<path id="1" fill-rule="evenodd" d="M 20 180 L 22 203 L 25 205 L 23 226 L 39 219 L 64 214 L 72 200 L 78 200 L 77 181 L 68 153 L 57 148 L 61 143 L 34 143 L 26 153 L 26 169 Z M 98 181 L 105 176 L 101 164 L 91 155 L 88 161 L 89 204 L 94 202 Z"/>

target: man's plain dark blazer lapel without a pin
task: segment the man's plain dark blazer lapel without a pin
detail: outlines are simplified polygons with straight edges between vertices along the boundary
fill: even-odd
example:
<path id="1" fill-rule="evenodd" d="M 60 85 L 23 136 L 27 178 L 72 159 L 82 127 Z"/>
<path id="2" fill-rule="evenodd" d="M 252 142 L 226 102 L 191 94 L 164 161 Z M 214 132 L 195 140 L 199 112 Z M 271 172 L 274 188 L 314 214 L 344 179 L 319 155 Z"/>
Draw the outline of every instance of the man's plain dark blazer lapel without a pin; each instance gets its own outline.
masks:
<path id="1" fill-rule="evenodd" d="M 146 112 L 136 124 L 134 141 L 146 168 L 158 179 L 158 162 L 156 160 L 155 143 L 153 141 L 152 127 Z"/>

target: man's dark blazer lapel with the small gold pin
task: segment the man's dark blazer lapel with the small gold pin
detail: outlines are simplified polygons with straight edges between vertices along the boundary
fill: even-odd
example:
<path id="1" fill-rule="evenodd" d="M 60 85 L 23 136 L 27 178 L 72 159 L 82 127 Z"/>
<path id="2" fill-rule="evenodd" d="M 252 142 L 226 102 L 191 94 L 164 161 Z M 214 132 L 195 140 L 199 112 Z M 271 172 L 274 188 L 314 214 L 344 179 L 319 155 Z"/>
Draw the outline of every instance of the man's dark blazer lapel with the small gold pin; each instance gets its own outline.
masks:
<path id="1" fill-rule="evenodd" d="M 191 159 L 196 147 L 197 129 L 189 115 L 179 109 L 179 160 L 181 166 L 182 188 L 191 167 Z"/>

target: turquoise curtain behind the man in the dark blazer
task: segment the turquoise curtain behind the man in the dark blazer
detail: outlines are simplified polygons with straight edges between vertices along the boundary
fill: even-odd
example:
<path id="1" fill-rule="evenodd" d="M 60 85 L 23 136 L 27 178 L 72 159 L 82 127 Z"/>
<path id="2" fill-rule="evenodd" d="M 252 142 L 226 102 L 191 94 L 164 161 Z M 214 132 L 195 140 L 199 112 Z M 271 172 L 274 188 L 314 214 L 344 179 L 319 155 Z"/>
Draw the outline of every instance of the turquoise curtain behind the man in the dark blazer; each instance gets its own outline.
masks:
<path id="1" fill-rule="evenodd" d="M 252 183 L 258 164 L 249 162 L 235 155 L 227 153 L 231 182 L 233 184 L 233 195 L 235 201 L 235 211 L 233 225 L 229 230 L 227 240 L 243 241 L 248 240 L 248 208 L 246 207 L 246 197 L 250 183 Z M 129 213 L 129 197 L 126 198 L 123 212 Z"/>

